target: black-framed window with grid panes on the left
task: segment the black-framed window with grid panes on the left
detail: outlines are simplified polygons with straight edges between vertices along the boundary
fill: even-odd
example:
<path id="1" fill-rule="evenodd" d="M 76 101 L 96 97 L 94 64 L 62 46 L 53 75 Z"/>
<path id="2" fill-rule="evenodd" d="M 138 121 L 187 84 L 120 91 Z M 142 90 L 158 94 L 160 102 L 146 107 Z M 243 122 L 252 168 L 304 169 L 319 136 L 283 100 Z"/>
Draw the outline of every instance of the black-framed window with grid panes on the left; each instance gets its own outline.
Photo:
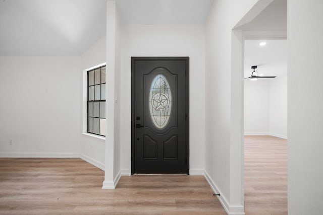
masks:
<path id="1" fill-rule="evenodd" d="M 87 132 L 105 136 L 105 65 L 87 71 Z"/>

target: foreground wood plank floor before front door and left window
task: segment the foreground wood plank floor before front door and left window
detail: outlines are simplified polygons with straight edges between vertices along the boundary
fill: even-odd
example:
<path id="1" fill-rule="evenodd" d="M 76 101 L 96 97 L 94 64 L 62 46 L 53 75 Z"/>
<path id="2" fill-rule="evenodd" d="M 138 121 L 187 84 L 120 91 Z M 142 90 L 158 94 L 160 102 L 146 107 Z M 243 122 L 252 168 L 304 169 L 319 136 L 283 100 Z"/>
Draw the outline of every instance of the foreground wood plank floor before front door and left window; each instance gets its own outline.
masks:
<path id="1" fill-rule="evenodd" d="M 81 159 L 0 158 L 0 214 L 227 214 L 202 176 L 103 180 Z"/>

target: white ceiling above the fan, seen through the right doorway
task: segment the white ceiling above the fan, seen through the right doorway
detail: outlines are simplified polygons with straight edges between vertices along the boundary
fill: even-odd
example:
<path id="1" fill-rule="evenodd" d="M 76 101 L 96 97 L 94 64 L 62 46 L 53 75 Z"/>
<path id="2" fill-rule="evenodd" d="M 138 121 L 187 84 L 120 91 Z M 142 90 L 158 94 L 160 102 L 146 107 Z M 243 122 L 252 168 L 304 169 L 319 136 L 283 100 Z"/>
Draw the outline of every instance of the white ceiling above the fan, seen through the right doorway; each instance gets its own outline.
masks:
<path id="1" fill-rule="evenodd" d="M 266 45 L 260 46 L 260 42 Z M 287 40 L 246 40 L 244 47 L 244 77 L 250 77 L 251 66 L 257 65 L 258 75 L 287 75 Z"/>

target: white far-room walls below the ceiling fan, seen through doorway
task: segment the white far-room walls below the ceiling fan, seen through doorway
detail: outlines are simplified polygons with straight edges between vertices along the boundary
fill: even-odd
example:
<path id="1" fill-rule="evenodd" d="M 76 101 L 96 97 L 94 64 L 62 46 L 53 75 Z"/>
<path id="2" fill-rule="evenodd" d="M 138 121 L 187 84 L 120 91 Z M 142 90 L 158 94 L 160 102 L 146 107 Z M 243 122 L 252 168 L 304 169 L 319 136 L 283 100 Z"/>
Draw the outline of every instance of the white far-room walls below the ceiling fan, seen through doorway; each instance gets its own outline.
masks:
<path id="1" fill-rule="evenodd" d="M 244 133 L 287 139 L 287 76 L 244 81 Z"/>

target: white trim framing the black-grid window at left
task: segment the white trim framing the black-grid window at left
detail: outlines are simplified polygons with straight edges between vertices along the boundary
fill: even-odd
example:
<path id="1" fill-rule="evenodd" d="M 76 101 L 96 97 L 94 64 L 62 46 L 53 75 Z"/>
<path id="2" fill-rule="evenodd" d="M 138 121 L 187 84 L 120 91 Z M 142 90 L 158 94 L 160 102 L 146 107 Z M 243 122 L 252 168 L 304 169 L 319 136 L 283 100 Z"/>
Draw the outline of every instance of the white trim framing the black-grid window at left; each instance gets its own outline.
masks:
<path id="1" fill-rule="evenodd" d="M 96 135 L 93 133 L 87 133 L 87 71 L 92 70 L 97 67 L 106 66 L 106 62 L 100 63 L 98 65 L 92 66 L 90 68 L 83 70 L 83 83 L 82 83 L 82 134 L 95 137 L 98 139 L 105 139 L 105 136 Z M 106 77 L 106 76 L 105 76 Z M 106 129 L 106 128 L 105 128 Z M 106 133 L 106 132 L 105 132 Z"/>

